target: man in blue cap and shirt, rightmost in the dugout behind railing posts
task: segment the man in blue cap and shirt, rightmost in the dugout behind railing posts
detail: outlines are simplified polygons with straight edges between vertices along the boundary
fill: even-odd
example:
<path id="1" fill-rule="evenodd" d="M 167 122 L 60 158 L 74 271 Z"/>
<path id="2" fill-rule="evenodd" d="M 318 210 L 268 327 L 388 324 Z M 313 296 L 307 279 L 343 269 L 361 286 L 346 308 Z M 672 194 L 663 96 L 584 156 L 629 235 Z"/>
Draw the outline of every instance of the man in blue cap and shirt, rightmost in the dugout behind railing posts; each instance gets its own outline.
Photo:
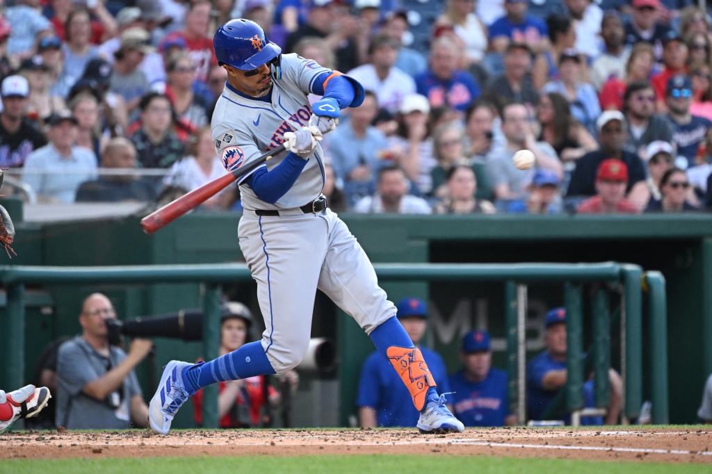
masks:
<path id="1" fill-rule="evenodd" d="M 544 419 L 544 414 L 566 384 L 566 310 L 557 307 L 545 317 L 545 352 L 534 357 L 527 364 L 527 411 L 532 420 Z M 621 409 L 622 382 L 613 369 L 609 371 L 610 402 L 605 416 L 606 424 L 615 424 Z M 583 386 L 585 406 L 593 406 L 593 381 Z M 559 416 L 559 414 L 555 414 Z M 567 418 L 567 417 L 566 417 Z M 560 418 L 555 418 L 560 419 Z M 584 425 L 601 425 L 600 416 L 582 418 Z"/>

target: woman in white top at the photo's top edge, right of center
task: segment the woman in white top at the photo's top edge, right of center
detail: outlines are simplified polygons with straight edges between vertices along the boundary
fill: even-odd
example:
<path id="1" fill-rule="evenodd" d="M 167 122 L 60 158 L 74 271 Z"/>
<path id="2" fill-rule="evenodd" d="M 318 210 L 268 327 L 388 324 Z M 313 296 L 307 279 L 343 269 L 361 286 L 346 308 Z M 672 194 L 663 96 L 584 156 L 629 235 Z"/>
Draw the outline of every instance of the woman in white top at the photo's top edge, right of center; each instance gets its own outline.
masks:
<path id="1" fill-rule="evenodd" d="M 465 43 L 467 64 L 481 63 L 487 51 L 487 27 L 474 14 L 473 0 L 448 0 L 444 13 L 435 22 L 435 27 L 451 26 L 454 33 Z"/>

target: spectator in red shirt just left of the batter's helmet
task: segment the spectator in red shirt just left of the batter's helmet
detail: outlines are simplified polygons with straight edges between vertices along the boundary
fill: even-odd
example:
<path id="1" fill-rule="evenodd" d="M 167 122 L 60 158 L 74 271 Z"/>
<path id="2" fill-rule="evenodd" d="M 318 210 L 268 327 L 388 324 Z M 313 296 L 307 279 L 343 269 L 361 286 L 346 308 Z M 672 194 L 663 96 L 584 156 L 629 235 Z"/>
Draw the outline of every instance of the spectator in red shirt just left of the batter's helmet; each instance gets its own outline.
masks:
<path id="1" fill-rule="evenodd" d="M 162 43 L 168 43 L 175 41 L 176 38 L 182 38 L 185 41 L 187 51 L 197 67 L 196 80 L 203 83 L 207 81 L 210 67 L 218 62 L 213 51 L 213 40 L 208 37 L 211 9 L 209 1 L 195 1 L 186 11 L 184 28 L 181 31 L 169 33 L 162 41 Z"/>

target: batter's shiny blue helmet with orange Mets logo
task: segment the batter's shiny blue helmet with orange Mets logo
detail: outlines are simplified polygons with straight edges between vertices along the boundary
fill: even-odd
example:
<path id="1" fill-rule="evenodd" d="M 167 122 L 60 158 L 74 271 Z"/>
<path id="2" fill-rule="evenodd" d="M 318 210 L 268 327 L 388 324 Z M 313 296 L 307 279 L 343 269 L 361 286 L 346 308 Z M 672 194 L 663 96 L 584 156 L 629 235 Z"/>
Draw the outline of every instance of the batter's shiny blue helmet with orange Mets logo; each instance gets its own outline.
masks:
<path id="1" fill-rule="evenodd" d="M 257 23 L 245 19 L 230 20 L 218 28 L 213 48 L 219 65 L 241 70 L 259 68 L 282 53 Z"/>

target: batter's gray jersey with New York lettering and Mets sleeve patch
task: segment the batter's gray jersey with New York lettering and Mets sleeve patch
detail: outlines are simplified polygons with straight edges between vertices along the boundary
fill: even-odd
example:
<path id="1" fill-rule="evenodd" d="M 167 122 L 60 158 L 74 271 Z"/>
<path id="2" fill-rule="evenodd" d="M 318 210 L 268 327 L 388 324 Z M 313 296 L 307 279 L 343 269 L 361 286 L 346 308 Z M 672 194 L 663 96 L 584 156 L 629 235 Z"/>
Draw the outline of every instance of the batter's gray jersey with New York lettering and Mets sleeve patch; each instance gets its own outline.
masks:
<path id="1" fill-rule="evenodd" d="M 309 123 L 311 107 L 307 95 L 318 75 L 330 72 L 314 60 L 282 55 L 282 77 L 273 81 L 271 103 L 245 98 L 226 84 L 215 105 L 211 135 L 215 151 L 228 170 L 244 166 L 268 149 L 278 147 L 286 132 L 294 132 Z M 267 169 L 273 169 L 286 154 L 270 159 Z M 261 201 L 239 181 L 244 209 L 290 209 L 318 198 L 324 186 L 324 154 L 317 145 L 295 184 L 275 204 Z M 254 172 L 254 171 L 253 171 Z"/>

